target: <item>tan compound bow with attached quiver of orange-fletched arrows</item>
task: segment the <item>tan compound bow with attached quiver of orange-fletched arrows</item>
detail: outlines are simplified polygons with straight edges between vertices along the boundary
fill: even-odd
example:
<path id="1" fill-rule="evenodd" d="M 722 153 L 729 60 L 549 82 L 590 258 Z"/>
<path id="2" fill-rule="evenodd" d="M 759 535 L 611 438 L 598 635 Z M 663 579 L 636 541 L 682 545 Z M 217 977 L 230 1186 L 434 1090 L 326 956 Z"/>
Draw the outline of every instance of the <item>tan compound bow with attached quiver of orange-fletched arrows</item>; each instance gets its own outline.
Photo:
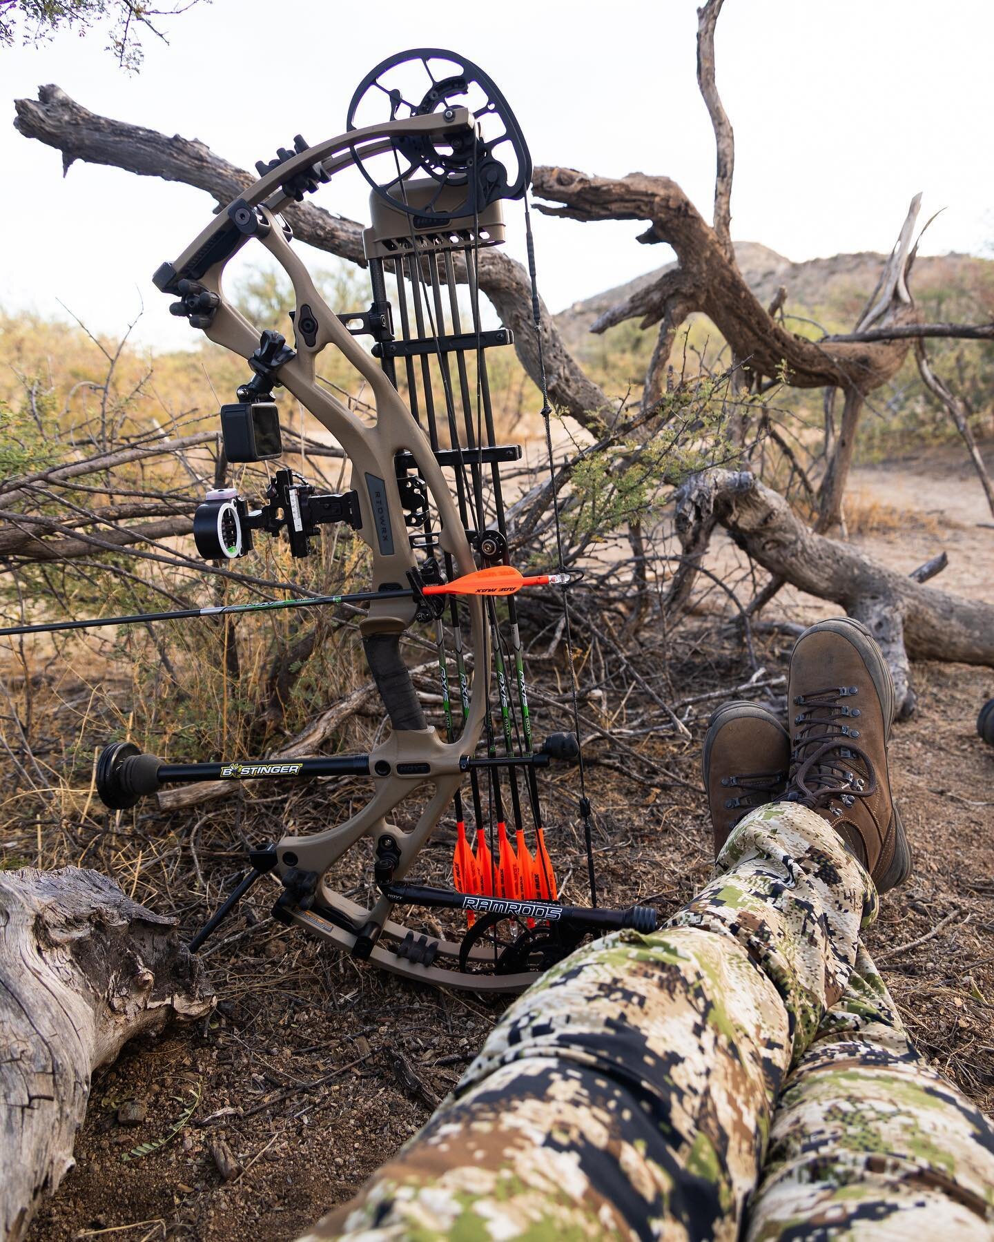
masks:
<path id="1" fill-rule="evenodd" d="M 413 76 L 421 78 L 414 89 Z M 533 744 L 513 595 L 528 580 L 509 565 L 499 474 L 501 463 L 518 460 L 522 450 L 496 443 L 485 358 L 488 349 L 507 345 L 512 338 L 506 328 L 483 329 L 478 287 L 481 248 L 504 240 L 503 200 L 523 199 L 540 356 L 540 308 L 526 199 L 531 158 L 493 82 L 465 57 L 437 48 L 403 52 L 378 66 L 357 89 L 347 125 L 344 134 L 314 147 L 298 135 L 293 150 L 281 149 L 268 164 L 257 164 L 255 185 L 221 210 L 175 262 L 164 263 L 154 281 L 178 298 L 170 308 L 174 313 L 247 359 L 253 371 L 239 389 L 239 401 L 221 410 L 229 460 L 278 456 L 280 422 L 272 394 L 283 386 L 334 436 L 352 463 L 352 487 L 343 494 L 318 494 L 290 469 L 276 472 L 267 503 L 258 509 L 234 491 L 209 493 L 194 522 L 201 555 L 242 556 L 252 548 L 252 532 L 286 532 L 292 554 L 303 556 L 318 527 L 328 522 L 347 523 L 372 551 L 374 582 L 368 591 L 188 610 L 185 615 L 363 601 L 368 611 L 359 628 L 390 734 L 367 755 L 290 763 L 166 764 L 139 754 L 130 743 L 114 743 L 101 755 L 97 789 L 106 805 L 125 809 L 180 781 L 368 776 L 373 796 L 347 822 L 309 836 L 286 836 L 252 851 L 252 869 L 191 948 L 203 944 L 258 876 L 276 871 L 283 893 L 275 914 L 282 920 L 302 924 L 338 948 L 410 979 L 517 991 L 590 933 L 655 927 L 650 908 L 596 905 L 578 718 L 575 734 L 554 734 L 542 748 Z M 352 165 L 373 190 L 372 226 L 364 232 L 373 301 L 367 312 L 337 314 L 292 248 L 280 212 Z M 260 333 L 225 298 L 225 267 L 248 242 L 263 246 L 292 282 L 292 348 L 276 332 Z M 468 332 L 457 298 L 460 279 L 470 292 Z M 390 286 L 399 317 L 396 335 Z M 373 338 L 372 351 L 355 339 L 362 333 Z M 364 421 L 321 385 L 316 363 L 328 347 L 339 350 L 368 385 L 375 421 Z M 544 371 L 542 381 L 552 471 Z M 441 426 L 436 385 L 442 392 Z M 451 472 L 451 481 L 444 471 Z M 553 501 L 558 540 L 554 477 Z M 559 560 L 558 574 L 539 578 L 563 587 L 574 678 L 567 601 L 572 575 L 563 570 L 562 544 Z M 507 596 L 503 630 L 499 595 Z M 148 619 L 102 619 L 101 623 Z M 429 626 L 434 635 L 444 735 L 429 724 L 401 655 L 401 636 L 414 623 Z M 452 635 L 451 652 L 446 628 Z M 492 661 L 498 692 L 493 712 Z M 458 723 L 450 699 L 452 667 Z M 575 713 L 575 679 L 573 703 Z M 486 754 L 477 753 L 481 744 Z M 580 764 L 591 889 L 591 905 L 585 908 L 557 900 L 544 843 L 537 769 L 553 759 Z M 475 850 L 466 835 L 466 782 Z M 513 843 L 506 827 L 504 786 L 511 794 Z M 409 799 L 420 806 L 425 791 L 426 805 L 414 828 L 401 831 L 391 816 Z M 408 883 L 405 877 L 450 806 L 457 825 L 456 891 Z M 526 840 L 523 806 L 534 832 L 534 852 Z M 335 862 L 364 837 L 372 838 L 375 854 L 379 895 L 372 908 L 337 891 L 332 877 Z M 458 941 L 419 935 L 393 918 L 395 907 L 403 904 L 463 910 L 470 928 Z M 516 934 L 498 944 L 496 928 L 504 920 Z"/>

